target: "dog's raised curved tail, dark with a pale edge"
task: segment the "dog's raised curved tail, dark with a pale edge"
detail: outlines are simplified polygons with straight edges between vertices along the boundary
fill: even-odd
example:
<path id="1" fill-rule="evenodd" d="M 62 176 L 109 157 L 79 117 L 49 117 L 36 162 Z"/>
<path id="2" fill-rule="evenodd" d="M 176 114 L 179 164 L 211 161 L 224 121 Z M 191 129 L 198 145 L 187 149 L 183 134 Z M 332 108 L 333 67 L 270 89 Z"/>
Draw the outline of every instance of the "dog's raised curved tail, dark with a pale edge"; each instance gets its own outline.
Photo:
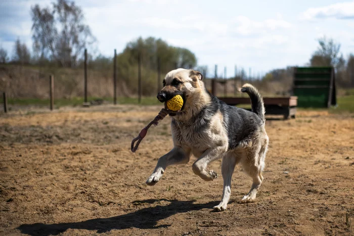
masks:
<path id="1" fill-rule="evenodd" d="M 257 114 L 264 123 L 264 103 L 258 90 L 253 85 L 246 83 L 242 86 L 241 92 L 246 92 L 248 94 L 249 98 L 251 99 L 252 112 Z"/>

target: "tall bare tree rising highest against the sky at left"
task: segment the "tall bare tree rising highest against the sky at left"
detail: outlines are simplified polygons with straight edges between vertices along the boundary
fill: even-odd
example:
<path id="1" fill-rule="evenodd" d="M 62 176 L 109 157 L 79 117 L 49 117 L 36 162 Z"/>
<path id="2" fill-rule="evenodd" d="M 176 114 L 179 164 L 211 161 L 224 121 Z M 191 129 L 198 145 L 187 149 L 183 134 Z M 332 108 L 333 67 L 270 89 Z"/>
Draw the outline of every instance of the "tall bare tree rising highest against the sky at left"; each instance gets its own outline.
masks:
<path id="1" fill-rule="evenodd" d="M 33 50 L 40 58 L 52 59 L 65 67 L 77 65 L 83 50 L 96 39 L 84 24 L 80 7 L 74 2 L 57 0 L 52 8 L 31 8 Z"/>

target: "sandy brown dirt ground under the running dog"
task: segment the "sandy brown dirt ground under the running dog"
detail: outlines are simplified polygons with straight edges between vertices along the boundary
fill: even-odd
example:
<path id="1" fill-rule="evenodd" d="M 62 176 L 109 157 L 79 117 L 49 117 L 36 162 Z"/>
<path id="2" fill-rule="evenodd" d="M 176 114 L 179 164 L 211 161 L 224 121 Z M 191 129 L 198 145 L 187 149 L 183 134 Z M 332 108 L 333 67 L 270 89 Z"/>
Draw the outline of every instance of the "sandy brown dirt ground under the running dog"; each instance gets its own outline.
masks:
<path id="1" fill-rule="evenodd" d="M 239 203 L 251 178 L 237 166 L 228 209 L 212 212 L 223 179 L 194 175 L 195 157 L 145 184 L 172 147 L 169 119 L 150 128 L 135 154 L 130 141 L 160 108 L 0 114 L 0 234 L 354 235 L 353 114 L 267 120 L 256 202 Z M 220 165 L 211 168 L 221 174 Z"/>

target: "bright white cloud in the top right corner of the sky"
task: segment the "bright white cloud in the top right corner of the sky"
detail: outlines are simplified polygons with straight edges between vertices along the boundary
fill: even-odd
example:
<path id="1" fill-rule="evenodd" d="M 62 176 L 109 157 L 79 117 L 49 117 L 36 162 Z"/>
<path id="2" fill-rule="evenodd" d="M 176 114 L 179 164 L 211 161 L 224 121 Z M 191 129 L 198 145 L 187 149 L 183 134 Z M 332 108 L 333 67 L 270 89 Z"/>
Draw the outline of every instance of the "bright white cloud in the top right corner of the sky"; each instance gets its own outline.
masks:
<path id="1" fill-rule="evenodd" d="M 354 1 L 332 4 L 320 8 L 309 8 L 301 14 L 300 18 L 305 20 L 314 20 L 320 18 L 354 18 Z"/>

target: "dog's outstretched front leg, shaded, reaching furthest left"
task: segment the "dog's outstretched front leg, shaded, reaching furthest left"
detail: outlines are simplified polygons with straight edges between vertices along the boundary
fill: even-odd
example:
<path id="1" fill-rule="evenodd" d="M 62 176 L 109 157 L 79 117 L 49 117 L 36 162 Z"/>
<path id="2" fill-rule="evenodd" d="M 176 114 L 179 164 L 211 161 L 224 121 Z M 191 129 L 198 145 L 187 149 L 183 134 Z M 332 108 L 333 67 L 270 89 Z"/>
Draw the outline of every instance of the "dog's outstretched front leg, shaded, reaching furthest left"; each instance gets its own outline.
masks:
<path id="1" fill-rule="evenodd" d="M 146 180 L 146 183 L 148 185 L 156 184 L 165 172 L 167 166 L 186 164 L 189 162 L 190 157 L 191 152 L 187 148 L 174 147 L 167 154 L 159 158 L 154 172 L 150 175 L 148 180 Z"/>

